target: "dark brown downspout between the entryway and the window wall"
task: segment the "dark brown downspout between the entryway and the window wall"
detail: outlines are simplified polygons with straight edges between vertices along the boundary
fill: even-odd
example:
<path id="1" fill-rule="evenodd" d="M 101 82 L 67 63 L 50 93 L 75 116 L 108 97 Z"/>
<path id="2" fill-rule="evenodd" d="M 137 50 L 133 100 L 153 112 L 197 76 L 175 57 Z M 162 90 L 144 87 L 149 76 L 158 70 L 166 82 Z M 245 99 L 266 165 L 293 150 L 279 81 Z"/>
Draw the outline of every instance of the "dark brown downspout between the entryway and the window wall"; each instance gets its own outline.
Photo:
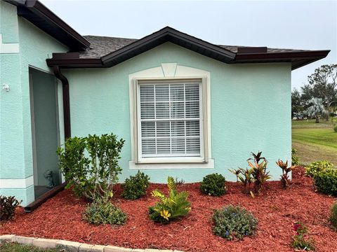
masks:
<path id="1" fill-rule="evenodd" d="M 70 98 L 69 98 L 69 82 L 67 78 L 62 75 L 60 66 L 53 66 L 53 71 L 62 83 L 62 96 L 63 96 L 63 124 L 65 127 L 65 140 L 71 137 L 70 132 Z"/>

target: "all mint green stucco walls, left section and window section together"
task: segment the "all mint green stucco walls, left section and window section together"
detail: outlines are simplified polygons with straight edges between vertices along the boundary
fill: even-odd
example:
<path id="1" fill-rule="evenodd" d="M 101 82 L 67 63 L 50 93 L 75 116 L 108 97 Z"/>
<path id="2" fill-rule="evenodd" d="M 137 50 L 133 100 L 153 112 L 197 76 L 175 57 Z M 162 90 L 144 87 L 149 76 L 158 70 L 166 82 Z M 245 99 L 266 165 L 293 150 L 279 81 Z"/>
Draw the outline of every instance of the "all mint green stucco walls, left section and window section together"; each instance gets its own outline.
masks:
<path id="1" fill-rule="evenodd" d="M 51 72 L 46 58 L 67 48 L 51 36 L 18 18 L 15 6 L 0 1 L 0 33 L 3 43 L 18 43 L 19 52 L 0 54 L 0 179 L 12 179 L 0 194 L 15 195 L 25 206 L 34 200 L 32 185 L 18 188 L 15 179 L 33 175 L 32 126 L 29 103 L 29 66 Z M 214 169 L 145 170 L 153 182 L 167 176 L 187 182 L 201 181 L 218 172 L 227 180 L 227 169 L 245 167 L 251 151 L 263 151 L 270 161 L 273 179 L 279 179 L 275 160 L 291 158 L 291 64 L 237 64 L 218 62 L 196 52 L 165 43 L 109 69 L 62 70 L 70 81 L 72 136 L 114 132 L 126 140 L 121 153 L 121 181 L 135 174 L 131 160 L 128 75 L 177 63 L 211 73 L 211 158 Z M 62 94 L 58 87 L 60 138 L 63 141 Z"/>

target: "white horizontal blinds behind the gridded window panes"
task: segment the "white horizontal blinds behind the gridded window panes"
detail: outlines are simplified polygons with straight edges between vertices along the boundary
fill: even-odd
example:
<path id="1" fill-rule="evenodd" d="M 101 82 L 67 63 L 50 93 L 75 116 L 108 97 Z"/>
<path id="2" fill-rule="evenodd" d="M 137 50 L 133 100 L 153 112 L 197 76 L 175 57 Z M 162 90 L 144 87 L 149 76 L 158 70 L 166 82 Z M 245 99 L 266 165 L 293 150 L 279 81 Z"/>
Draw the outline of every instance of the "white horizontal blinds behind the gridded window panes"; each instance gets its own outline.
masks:
<path id="1" fill-rule="evenodd" d="M 140 83 L 142 158 L 201 156 L 201 84 Z"/>

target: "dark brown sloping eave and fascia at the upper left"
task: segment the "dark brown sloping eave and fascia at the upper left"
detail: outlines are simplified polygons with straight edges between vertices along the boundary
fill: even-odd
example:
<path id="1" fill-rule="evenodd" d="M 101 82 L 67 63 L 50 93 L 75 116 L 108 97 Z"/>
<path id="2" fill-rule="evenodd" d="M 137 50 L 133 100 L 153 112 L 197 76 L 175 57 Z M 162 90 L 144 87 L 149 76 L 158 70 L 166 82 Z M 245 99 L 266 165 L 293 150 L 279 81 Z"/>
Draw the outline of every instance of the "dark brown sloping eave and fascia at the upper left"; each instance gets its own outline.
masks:
<path id="1" fill-rule="evenodd" d="M 44 4 L 37 0 L 5 0 L 18 8 L 18 15 L 22 16 L 39 29 L 53 36 L 56 40 L 67 45 L 71 50 L 86 50 L 90 42 L 70 25 L 58 18 Z"/>

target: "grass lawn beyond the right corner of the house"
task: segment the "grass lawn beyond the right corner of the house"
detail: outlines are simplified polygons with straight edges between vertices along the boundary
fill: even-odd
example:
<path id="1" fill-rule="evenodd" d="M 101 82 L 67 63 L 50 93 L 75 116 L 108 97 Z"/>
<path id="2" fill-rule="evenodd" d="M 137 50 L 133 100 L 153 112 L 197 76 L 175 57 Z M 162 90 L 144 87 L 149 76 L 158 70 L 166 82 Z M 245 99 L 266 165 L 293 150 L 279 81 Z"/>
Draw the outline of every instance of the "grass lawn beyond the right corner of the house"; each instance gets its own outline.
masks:
<path id="1" fill-rule="evenodd" d="M 331 120 L 302 120 L 292 122 L 292 145 L 298 150 L 300 162 L 308 164 L 328 160 L 337 166 L 337 133 Z"/>

